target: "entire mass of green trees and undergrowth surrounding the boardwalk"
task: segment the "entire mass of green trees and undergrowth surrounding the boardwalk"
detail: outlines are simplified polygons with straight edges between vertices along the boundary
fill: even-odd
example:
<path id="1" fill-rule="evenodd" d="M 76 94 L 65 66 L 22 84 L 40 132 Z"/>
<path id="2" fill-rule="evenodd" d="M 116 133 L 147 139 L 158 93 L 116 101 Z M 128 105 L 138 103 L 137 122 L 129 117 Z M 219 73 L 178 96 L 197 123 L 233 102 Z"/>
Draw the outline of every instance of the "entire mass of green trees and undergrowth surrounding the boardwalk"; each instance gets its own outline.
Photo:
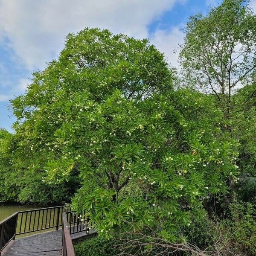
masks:
<path id="1" fill-rule="evenodd" d="M 247 1 L 191 17 L 180 62 L 177 73 L 148 40 L 108 30 L 68 35 L 11 101 L 0 201 L 71 200 L 104 239 L 90 255 L 111 255 L 108 239 L 124 255 L 255 255 L 256 16 Z"/>

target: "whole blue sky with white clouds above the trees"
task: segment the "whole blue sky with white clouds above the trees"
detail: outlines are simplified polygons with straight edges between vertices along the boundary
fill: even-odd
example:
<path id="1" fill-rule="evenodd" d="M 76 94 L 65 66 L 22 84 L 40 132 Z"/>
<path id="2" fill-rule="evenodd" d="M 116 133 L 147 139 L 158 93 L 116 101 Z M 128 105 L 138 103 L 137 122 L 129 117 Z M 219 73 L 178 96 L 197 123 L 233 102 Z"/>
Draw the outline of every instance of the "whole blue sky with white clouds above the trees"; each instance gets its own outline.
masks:
<path id="1" fill-rule="evenodd" d="M 100 27 L 150 38 L 177 66 L 189 16 L 221 0 L 0 0 L 0 128 L 12 131 L 9 99 L 26 92 L 32 72 L 58 57 L 65 35 Z M 250 6 L 256 11 L 256 0 Z"/>

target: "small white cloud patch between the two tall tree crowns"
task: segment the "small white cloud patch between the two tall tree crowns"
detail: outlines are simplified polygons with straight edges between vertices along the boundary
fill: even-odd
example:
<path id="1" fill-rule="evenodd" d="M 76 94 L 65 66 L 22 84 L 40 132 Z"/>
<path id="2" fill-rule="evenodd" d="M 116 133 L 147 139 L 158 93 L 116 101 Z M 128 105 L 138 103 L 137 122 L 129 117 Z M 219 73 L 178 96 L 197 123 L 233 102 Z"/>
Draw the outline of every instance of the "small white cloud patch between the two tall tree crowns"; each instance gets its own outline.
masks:
<path id="1" fill-rule="evenodd" d="M 169 31 L 158 29 L 152 35 L 151 42 L 155 44 L 161 52 L 164 52 L 171 66 L 178 67 L 179 45 L 183 43 L 184 36 L 185 34 L 181 31 L 180 26 L 175 26 Z"/>

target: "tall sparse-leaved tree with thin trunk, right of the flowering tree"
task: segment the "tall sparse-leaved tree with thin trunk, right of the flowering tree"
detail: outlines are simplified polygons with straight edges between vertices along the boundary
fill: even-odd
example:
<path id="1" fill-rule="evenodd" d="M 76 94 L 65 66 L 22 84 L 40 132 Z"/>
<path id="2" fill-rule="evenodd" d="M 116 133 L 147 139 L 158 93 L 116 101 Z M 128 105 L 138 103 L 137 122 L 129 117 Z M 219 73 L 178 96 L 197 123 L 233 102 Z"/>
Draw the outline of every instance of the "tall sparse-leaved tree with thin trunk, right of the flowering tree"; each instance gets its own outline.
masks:
<path id="1" fill-rule="evenodd" d="M 224 0 L 206 16 L 190 17 L 180 59 L 186 76 L 215 94 L 230 129 L 231 96 L 256 68 L 256 15 L 248 1 Z"/>

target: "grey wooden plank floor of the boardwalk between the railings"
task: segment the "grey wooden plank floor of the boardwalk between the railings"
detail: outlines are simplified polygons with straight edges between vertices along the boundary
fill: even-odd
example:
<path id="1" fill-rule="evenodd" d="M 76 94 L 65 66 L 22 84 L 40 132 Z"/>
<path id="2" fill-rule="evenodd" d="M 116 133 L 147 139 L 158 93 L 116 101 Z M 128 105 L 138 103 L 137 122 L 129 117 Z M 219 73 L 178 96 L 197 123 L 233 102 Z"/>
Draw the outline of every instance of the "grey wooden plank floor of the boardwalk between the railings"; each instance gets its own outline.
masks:
<path id="1" fill-rule="evenodd" d="M 90 230 L 71 234 L 71 239 L 79 239 L 96 233 Z M 1 256 L 61 256 L 61 229 L 12 240 L 2 251 Z"/>

